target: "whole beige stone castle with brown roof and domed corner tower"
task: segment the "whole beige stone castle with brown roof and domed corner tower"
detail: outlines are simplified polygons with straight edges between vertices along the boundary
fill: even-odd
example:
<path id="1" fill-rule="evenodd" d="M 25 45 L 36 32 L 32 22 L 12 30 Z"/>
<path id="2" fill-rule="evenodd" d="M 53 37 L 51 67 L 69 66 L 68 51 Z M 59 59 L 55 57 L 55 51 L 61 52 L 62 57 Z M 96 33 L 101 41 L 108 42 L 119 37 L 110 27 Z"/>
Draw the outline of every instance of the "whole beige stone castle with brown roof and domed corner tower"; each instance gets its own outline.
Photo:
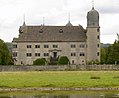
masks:
<path id="1" fill-rule="evenodd" d="M 28 26 L 19 28 L 19 37 L 14 38 L 13 58 L 16 65 L 32 65 L 38 58 L 55 61 L 67 56 L 70 64 L 86 64 L 100 61 L 99 13 L 92 7 L 87 13 L 87 28 L 73 26 Z"/>

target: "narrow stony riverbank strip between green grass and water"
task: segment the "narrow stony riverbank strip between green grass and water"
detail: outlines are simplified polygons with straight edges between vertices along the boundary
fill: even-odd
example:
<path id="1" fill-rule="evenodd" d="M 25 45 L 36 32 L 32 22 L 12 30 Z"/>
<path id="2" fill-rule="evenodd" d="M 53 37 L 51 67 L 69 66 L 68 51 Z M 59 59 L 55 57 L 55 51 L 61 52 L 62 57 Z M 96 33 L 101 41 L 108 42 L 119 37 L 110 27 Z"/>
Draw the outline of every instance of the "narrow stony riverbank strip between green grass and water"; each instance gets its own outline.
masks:
<path id="1" fill-rule="evenodd" d="M 119 91 L 119 88 L 0 88 L 0 92 L 32 92 L 32 91 Z"/>

